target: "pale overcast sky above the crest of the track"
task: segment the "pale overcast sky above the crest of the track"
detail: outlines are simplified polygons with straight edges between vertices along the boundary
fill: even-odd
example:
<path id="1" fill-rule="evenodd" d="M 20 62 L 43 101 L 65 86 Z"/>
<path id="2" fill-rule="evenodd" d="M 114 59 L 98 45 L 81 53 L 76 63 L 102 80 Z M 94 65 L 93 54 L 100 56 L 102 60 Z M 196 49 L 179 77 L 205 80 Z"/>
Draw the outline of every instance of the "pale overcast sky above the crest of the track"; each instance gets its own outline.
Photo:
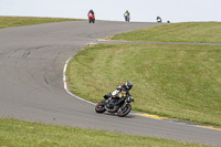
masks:
<path id="1" fill-rule="evenodd" d="M 87 19 L 90 9 L 99 20 L 124 21 L 128 10 L 131 21 L 221 22 L 221 0 L 0 0 L 0 15 Z"/>

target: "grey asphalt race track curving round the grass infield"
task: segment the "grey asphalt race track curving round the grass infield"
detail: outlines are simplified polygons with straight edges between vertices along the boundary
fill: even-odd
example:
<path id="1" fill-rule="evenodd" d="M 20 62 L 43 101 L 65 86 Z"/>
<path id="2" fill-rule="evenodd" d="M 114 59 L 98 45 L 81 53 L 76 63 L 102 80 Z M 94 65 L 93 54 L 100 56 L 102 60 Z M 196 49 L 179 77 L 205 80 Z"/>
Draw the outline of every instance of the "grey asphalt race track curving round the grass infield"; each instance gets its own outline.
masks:
<path id="1" fill-rule="evenodd" d="M 63 88 L 65 61 L 95 39 L 157 23 L 60 22 L 0 29 L 0 117 L 221 145 L 221 132 L 128 115 L 96 114 Z"/>

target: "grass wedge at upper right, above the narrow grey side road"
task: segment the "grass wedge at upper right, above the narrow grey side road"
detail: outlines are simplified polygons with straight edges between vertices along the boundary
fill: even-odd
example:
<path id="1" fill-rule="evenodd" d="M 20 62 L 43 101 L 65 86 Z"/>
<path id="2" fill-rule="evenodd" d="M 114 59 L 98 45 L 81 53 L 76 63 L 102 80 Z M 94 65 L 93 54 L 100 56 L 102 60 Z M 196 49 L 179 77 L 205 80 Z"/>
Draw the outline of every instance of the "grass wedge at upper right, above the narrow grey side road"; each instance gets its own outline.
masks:
<path id="1" fill-rule="evenodd" d="M 221 43 L 221 22 L 169 23 L 122 33 L 113 39 L 144 42 Z"/>

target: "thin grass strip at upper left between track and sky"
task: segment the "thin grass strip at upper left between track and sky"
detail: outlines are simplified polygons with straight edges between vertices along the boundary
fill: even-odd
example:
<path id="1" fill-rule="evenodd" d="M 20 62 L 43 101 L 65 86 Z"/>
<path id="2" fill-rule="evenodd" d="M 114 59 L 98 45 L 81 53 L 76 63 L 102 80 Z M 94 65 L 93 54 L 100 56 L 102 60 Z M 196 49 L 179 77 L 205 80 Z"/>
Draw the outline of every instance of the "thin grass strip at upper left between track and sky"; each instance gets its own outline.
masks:
<path id="1" fill-rule="evenodd" d="M 0 29 L 62 21 L 80 21 L 80 19 L 34 18 L 34 17 L 0 17 Z"/>

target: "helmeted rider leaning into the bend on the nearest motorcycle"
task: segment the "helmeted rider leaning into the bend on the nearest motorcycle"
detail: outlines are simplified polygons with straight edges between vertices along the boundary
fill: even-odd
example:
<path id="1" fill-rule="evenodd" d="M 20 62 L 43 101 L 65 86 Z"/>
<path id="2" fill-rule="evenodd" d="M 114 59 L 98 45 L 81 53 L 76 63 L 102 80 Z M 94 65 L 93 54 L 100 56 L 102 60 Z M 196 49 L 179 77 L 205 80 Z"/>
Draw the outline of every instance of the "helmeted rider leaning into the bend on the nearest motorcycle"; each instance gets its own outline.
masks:
<path id="1" fill-rule="evenodd" d="M 113 93 L 109 95 L 110 103 L 107 104 L 107 108 L 113 108 L 116 104 L 119 104 L 124 95 L 130 96 L 129 91 L 133 87 L 133 83 L 127 81 L 125 84 L 120 84 Z M 107 96 L 107 95 L 106 95 Z"/>

